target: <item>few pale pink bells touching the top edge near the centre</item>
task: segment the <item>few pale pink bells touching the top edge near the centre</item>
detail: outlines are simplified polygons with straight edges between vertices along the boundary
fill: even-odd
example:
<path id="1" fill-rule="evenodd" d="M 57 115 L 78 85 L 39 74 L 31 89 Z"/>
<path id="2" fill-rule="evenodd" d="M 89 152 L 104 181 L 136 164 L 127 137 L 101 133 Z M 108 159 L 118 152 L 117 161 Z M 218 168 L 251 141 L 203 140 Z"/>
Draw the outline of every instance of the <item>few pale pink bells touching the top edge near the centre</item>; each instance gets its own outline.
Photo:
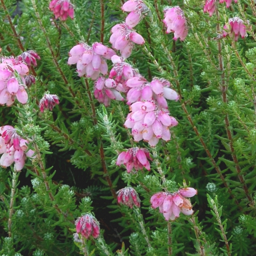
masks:
<path id="1" fill-rule="evenodd" d="M 146 4 L 141 0 L 128 0 L 122 6 L 124 12 L 130 12 L 125 19 L 125 23 L 130 27 L 135 27 L 143 17 L 143 14 L 147 14 L 149 11 Z"/>

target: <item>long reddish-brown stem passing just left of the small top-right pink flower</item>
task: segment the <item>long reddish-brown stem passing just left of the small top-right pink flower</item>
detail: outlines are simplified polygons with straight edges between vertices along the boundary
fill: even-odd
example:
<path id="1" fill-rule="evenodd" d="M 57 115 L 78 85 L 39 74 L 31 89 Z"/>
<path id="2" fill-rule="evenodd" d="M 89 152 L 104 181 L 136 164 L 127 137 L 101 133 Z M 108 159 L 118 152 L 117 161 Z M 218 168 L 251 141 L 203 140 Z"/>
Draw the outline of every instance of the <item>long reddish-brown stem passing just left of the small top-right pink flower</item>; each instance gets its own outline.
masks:
<path id="1" fill-rule="evenodd" d="M 216 10 L 216 15 L 218 17 L 217 19 L 219 20 L 218 10 Z M 220 31 L 220 23 L 217 24 L 217 31 Z M 224 71 L 224 64 L 223 64 L 221 49 L 222 49 L 222 45 L 221 45 L 221 41 L 219 40 L 218 41 L 218 57 L 219 57 L 219 69 L 221 71 L 221 92 L 222 92 L 222 100 L 223 100 L 225 106 L 227 106 L 228 100 L 227 100 L 226 91 L 228 90 L 228 83 L 225 82 L 225 71 Z M 231 134 L 231 131 L 230 131 L 230 123 L 229 123 L 229 118 L 228 118 L 227 113 L 225 114 L 225 128 L 226 128 L 226 132 L 227 132 L 227 136 L 228 136 L 228 140 L 229 140 L 229 147 L 230 147 L 230 150 L 231 150 L 231 156 L 232 156 L 232 159 L 233 159 L 233 161 L 236 165 L 236 172 L 237 172 L 238 179 L 240 180 L 240 182 L 243 186 L 245 195 L 247 196 L 250 203 L 252 203 L 252 198 L 249 195 L 248 188 L 245 184 L 243 176 L 241 175 L 241 168 L 240 168 L 240 165 L 239 165 L 237 157 L 236 157 L 235 149 L 233 147 L 233 137 L 232 137 L 232 134 Z"/>

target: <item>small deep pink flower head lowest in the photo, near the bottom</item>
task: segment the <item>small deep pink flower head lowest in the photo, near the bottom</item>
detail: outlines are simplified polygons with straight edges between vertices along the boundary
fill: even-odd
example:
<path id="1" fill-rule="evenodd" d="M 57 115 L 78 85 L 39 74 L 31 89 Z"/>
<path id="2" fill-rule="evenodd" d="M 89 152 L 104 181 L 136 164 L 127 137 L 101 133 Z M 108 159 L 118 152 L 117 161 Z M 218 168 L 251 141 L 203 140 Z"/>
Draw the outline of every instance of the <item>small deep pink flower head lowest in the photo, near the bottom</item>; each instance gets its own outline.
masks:
<path id="1" fill-rule="evenodd" d="M 76 232 L 80 233 L 86 239 L 89 236 L 97 238 L 100 235 L 100 224 L 91 214 L 85 214 L 84 216 L 76 220 Z"/>

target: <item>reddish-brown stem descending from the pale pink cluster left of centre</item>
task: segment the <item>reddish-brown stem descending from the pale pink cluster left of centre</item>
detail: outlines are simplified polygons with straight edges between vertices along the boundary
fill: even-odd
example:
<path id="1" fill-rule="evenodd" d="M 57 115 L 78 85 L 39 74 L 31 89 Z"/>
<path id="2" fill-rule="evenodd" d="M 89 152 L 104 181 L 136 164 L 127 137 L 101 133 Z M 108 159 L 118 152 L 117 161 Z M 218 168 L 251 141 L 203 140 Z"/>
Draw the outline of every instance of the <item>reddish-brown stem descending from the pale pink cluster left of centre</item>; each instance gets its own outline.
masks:
<path id="1" fill-rule="evenodd" d="M 86 89 L 87 89 L 87 93 L 88 93 L 88 97 L 89 97 L 90 105 L 91 105 L 91 109 L 92 109 L 93 123 L 94 123 L 94 125 L 96 125 L 96 124 L 98 124 L 98 121 L 97 121 L 97 117 L 96 117 L 96 111 L 95 111 L 95 106 L 94 106 L 94 102 L 92 99 L 92 94 L 91 94 L 87 79 L 85 79 L 85 84 L 86 84 Z M 100 140 L 100 161 L 101 161 L 102 169 L 104 172 L 104 176 L 105 176 L 106 181 L 108 182 L 108 186 L 110 188 L 112 196 L 116 199 L 117 198 L 116 191 L 113 188 L 113 184 L 109 177 L 108 169 L 107 169 L 107 165 L 106 165 L 106 161 L 105 161 L 102 138 L 100 137 L 99 140 Z"/>

